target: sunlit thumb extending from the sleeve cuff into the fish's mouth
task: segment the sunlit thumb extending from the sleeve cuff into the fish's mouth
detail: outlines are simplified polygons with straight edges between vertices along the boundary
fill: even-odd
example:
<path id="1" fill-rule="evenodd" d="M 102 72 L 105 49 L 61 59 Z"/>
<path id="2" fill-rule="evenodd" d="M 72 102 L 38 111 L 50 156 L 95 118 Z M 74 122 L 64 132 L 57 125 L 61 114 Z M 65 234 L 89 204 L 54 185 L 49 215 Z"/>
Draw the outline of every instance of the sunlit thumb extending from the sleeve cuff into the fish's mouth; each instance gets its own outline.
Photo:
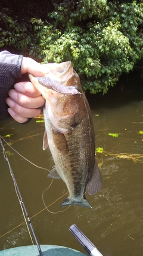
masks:
<path id="1" fill-rule="evenodd" d="M 31 58 L 23 57 L 21 64 L 21 74 L 30 73 L 33 76 L 44 76 L 49 73 L 49 69 L 45 65 L 41 65 Z"/>

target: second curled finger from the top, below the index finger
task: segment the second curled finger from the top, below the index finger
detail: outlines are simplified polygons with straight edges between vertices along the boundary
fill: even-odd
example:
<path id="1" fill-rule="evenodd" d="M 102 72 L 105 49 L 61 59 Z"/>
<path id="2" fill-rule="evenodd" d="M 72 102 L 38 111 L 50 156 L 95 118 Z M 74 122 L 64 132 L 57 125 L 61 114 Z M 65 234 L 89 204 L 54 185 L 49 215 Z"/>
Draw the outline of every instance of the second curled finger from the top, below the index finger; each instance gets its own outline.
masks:
<path id="1" fill-rule="evenodd" d="M 21 92 L 17 92 L 15 89 L 11 89 L 8 92 L 8 95 L 11 99 L 15 101 L 15 103 L 18 103 L 20 106 L 29 109 L 37 109 L 38 107 L 42 107 L 45 103 L 45 100 L 41 95 L 32 98 L 27 95 L 21 94 Z"/>

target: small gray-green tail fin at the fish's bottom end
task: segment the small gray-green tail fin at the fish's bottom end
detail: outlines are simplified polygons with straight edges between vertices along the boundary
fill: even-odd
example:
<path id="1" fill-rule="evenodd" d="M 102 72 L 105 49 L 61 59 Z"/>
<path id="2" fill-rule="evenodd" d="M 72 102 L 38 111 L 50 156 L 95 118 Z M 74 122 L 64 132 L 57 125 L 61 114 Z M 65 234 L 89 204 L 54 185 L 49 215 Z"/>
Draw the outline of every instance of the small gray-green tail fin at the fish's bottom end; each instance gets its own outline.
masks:
<path id="1" fill-rule="evenodd" d="M 88 208 L 92 208 L 91 205 L 89 204 L 88 200 L 86 198 L 79 198 L 79 200 L 76 199 L 70 199 L 69 197 L 67 197 L 63 203 L 61 204 L 61 207 L 63 206 L 68 206 L 68 205 L 78 205 L 78 206 L 84 206 L 84 207 L 88 207 Z"/>

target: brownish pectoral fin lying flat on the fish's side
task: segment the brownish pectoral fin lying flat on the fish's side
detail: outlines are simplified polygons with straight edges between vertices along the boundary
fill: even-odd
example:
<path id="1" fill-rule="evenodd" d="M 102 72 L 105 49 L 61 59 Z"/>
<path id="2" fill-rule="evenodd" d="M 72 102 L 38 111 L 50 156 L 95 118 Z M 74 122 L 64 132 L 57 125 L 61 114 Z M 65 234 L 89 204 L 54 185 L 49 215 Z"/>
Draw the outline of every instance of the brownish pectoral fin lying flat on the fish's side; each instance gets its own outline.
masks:
<path id="1" fill-rule="evenodd" d="M 60 153 L 66 155 L 69 152 L 69 147 L 65 135 L 61 132 L 52 130 L 52 138 L 55 147 L 60 151 Z"/>

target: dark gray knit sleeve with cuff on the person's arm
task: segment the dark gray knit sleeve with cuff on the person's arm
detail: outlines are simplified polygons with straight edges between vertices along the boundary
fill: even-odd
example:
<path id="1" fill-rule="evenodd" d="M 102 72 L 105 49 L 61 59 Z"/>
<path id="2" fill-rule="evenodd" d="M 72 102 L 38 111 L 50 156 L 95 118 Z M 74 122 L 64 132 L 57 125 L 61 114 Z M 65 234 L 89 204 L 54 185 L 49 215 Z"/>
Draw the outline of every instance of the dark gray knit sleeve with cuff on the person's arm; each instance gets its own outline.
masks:
<path id="1" fill-rule="evenodd" d="M 13 88 L 15 79 L 21 77 L 22 59 L 22 55 L 0 52 L 0 118 L 8 117 L 5 98 L 8 97 L 10 88 Z"/>

